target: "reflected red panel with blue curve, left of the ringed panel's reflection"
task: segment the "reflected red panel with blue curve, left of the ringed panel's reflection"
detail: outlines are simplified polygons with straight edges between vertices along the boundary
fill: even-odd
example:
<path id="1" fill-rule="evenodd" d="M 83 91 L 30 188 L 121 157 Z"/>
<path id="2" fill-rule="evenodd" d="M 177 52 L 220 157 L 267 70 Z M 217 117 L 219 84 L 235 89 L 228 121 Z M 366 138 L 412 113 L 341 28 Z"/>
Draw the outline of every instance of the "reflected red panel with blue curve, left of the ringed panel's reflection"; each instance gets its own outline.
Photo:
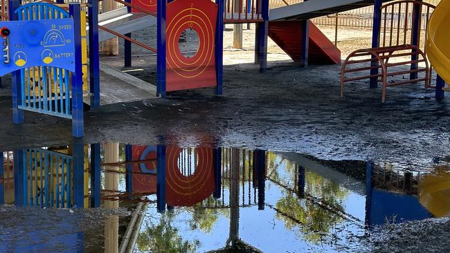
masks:
<path id="1" fill-rule="evenodd" d="M 132 160 L 151 160 L 133 164 L 133 193 L 153 194 L 156 192 L 156 175 L 150 171 L 156 169 L 156 147 L 132 145 Z"/>

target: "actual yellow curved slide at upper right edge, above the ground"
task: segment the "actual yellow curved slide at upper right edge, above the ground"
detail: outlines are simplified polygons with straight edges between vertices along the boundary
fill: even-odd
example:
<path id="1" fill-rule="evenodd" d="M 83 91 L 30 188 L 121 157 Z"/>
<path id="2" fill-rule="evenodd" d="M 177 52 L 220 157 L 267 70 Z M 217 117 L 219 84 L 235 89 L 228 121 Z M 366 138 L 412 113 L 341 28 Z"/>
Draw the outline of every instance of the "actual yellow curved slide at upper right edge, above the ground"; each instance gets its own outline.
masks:
<path id="1" fill-rule="evenodd" d="M 450 84 L 450 0 L 441 0 L 426 32 L 426 55 L 436 73 Z"/>

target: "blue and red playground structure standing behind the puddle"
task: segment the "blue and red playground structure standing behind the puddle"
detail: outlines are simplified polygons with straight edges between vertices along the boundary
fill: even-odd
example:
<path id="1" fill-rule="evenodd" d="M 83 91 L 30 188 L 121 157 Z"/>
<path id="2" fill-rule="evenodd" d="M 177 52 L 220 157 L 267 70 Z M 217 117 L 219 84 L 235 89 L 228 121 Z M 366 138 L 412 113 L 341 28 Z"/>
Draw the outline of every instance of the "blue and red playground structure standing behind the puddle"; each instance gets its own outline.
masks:
<path id="1" fill-rule="evenodd" d="M 75 59 L 70 69 L 57 66 L 57 61 L 53 61 L 52 57 L 46 58 L 46 61 L 50 64 L 46 64 L 45 61 L 44 64 L 38 64 L 38 61 L 29 65 L 28 63 L 31 62 L 28 61 L 26 66 L 21 66 L 25 69 L 20 71 L 18 69 L 17 71 L 16 69 L 7 71 L 2 68 L 1 75 L 14 72 L 12 89 L 13 121 L 15 123 L 23 122 L 24 110 L 50 114 L 72 119 L 73 136 L 82 137 L 84 135 L 83 101 L 89 104 L 91 109 L 100 106 L 100 88 L 102 87 L 100 86 L 102 64 L 100 64 L 98 53 L 100 41 L 113 37 L 125 39 L 124 66 L 132 66 L 132 44 L 157 53 L 156 86 L 145 82 L 133 84 L 139 85 L 145 91 L 165 97 L 165 94 L 170 91 L 215 87 L 215 93 L 220 95 L 223 86 L 224 24 L 256 24 L 255 63 L 260 65 L 261 72 L 267 69 L 267 37 L 271 37 L 300 66 L 307 66 L 308 63 L 339 64 L 341 62 L 339 49 L 309 19 L 372 4 L 375 5 L 374 8 L 377 10 L 374 13 L 372 48 L 358 51 L 349 57 L 364 56 L 368 58 L 358 59 L 357 61 L 347 59 L 343 64 L 342 71 L 342 75 L 344 75 L 345 73 L 369 70 L 370 75 L 351 78 L 343 76 L 342 83 L 370 78 L 370 87 L 374 88 L 377 86 L 377 82 L 382 82 L 383 101 L 388 86 L 424 81 L 426 88 L 431 87 L 429 83 L 431 66 L 428 66 L 426 51 L 423 45 L 421 46 L 419 43 L 420 28 L 423 24 L 426 26 L 426 20 L 428 20 L 434 6 L 422 3 L 422 1 L 395 1 L 383 6 L 381 0 L 346 0 L 339 3 L 309 0 L 273 9 L 270 13 L 269 0 L 217 0 L 215 3 L 209 0 L 114 1 L 125 7 L 100 15 L 99 1 L 97 0 L 90 0 L 87 4 L 78 4 L 78 7 L 70 7 L 77 5 L 67 5 L 64 0 L 57 0 L 56 2 L 43 0 L 26 3 L 23 6 L 18 0 L 1 1 L 1 18 L 10 20 L 7 23 L 2 23 L 2 27 L 9 26 L 8 24 L 12 23 L 8 22 L 15 20 L 45 23 L 45 20 L 57 22 L 57 19 L 68 19 L 69 17 L 72 17 L 74 24 L 79 27 L 74 30 L 73 37 L 76 41 L 80 41 L 80 45 L 75 45 L 75 49 L 71 49 L 71 52 L 77 57 L 80 56 L 80 59 Z M 410 9 L 413 10 L 413 30 L 411 32 L 406 28 L 403 37 L 400 36 L 401 27 L 399 24 L 401 21 L 408 24 L 409 11 L 406 9 L 403 12 L 402 4 L 404 6 L 413 5 Z M 397 5 L 399 8 L 395 7 Z M 427 8 L 426 17 L 423 18 L 425 22 L 422 22 L 423 15 L 418 15 L 418 13 L 423 13 L 422 6 Z M 80 10 L 69 10 L 69 8 L 79 8 Z M 81 11 L 81 8 L 87 9 L 87 12 Z M 398 14 L 394 11 L 397 9 Z M 381 26 L 382 15 L 385 17 L 384 26 Z M 388 15 L 391 17 L 390 26 L 389 21 L 386 23 Z M 406 16 L 402 18 L 402 15 Z M 86 26 L 86 23 L 88 26 Z M 395 23 L 398 24 L 397 28 L 393 25 Z M 132 39 L 132 32 L 155 24 L 157 26 L 156 48 Z M 185 57 L 178 46 L 181 34 L 187 29 L 192 29 L 199 35 L 199 49 L 190 58 Z M 291 32 L 292 30 L 298 30 L 298 32 Z M 397 32 L 397 37 L 393 39 L 395 32 Z M 411 43 L 407 39 L 410 35 Z M 383 38 L 382 46 L 380 37 Z M 14 37 L 14 32 L 10 36 L 3 36 L 3 39 L 6 38 L 21 41 L 21 39 Z M 10 43 L 20 44 L 17 41 L 11 41 Z M 432 41 L 436 41 L 436 39 Z M 440 47 L 442 48 L 442 46 Z M 408 52 L 405 53 L 405 50 Z M 89 51 L 89 57 L 87 57 L 87 51 Z M 410 57 L 411 60 L 388 62 L 394 57 Z M 88 58 L 89 67 L 87 64 Z M 442 57 L 439 59 L 442 59 Z M 347 68 L 354 63 L 362 63 L 361 61 L 369 63 L 370 66 Z M 436 62 L 436 60 L 434 61 Z M 425 64 L 425 67 L 419 66 L 420 63 Z M 411 74 L 411 79 L 395 83 L 389 82 L 388 77 L 390 76 L 407 74 L 405 71 L 393 72 L 389 68 L 404 64 L 411 64 L 411 72 L 408 72 Z M 75 71 L 75 68 L 78 71 Z M 380 69 L 381 73 L 379 73 Z M 438 66 L 437 71 L 445 75 L 442 67 Z M 418 78 L 418 73 L 424 73 L 425 77 Z M 120 75 L 127 74 L 120 73 Z M 381 79 L 378 79 L 379 77 Z M 133 79 L 129 83 L 138 82 Z M 443 86 L 444 82 L 438 76 L 436 88 L 438 99 L 443 97 Z"/>

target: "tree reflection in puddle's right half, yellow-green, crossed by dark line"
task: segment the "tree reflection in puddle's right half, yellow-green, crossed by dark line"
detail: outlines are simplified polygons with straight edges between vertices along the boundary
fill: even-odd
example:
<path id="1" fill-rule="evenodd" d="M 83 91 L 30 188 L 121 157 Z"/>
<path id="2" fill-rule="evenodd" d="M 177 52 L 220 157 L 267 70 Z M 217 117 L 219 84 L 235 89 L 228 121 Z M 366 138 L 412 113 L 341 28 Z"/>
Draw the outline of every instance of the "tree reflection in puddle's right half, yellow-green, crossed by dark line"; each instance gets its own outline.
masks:
<path id="1" fill-rule="evenodd" d="M 322 178 L 319 174 L 306 171 L 305 193 L 307 196 L 320 198 L 323 203 L 343 210 L 342 201 L 348 194 L 334 182 Z M 305 240 L 318 243 L 321 235 L 330 232 L 334 224 L 342 221 L 339 214 L 330 212 L 309 200 L 298 199 L 293 192 L 285 191 L 276 203 L 276 217 L 285 222 L 287 229 L 300 229 Z"/>

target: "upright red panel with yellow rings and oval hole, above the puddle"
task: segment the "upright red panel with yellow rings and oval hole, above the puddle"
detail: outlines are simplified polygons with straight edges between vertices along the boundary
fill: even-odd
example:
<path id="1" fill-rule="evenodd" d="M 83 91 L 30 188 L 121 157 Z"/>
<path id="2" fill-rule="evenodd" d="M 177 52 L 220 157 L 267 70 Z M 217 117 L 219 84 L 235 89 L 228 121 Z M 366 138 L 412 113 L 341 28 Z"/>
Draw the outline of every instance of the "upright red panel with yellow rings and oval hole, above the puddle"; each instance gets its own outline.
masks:
<path id="1" fill-rule="evenodd" d="M 216 86 L 215 25 L 217 5 L 210 0 L 174 0 L 167 6 L 166 91 Z M 185 57 L 179 50 L 183 30 L 199 35 L 199 50 Z"/>

